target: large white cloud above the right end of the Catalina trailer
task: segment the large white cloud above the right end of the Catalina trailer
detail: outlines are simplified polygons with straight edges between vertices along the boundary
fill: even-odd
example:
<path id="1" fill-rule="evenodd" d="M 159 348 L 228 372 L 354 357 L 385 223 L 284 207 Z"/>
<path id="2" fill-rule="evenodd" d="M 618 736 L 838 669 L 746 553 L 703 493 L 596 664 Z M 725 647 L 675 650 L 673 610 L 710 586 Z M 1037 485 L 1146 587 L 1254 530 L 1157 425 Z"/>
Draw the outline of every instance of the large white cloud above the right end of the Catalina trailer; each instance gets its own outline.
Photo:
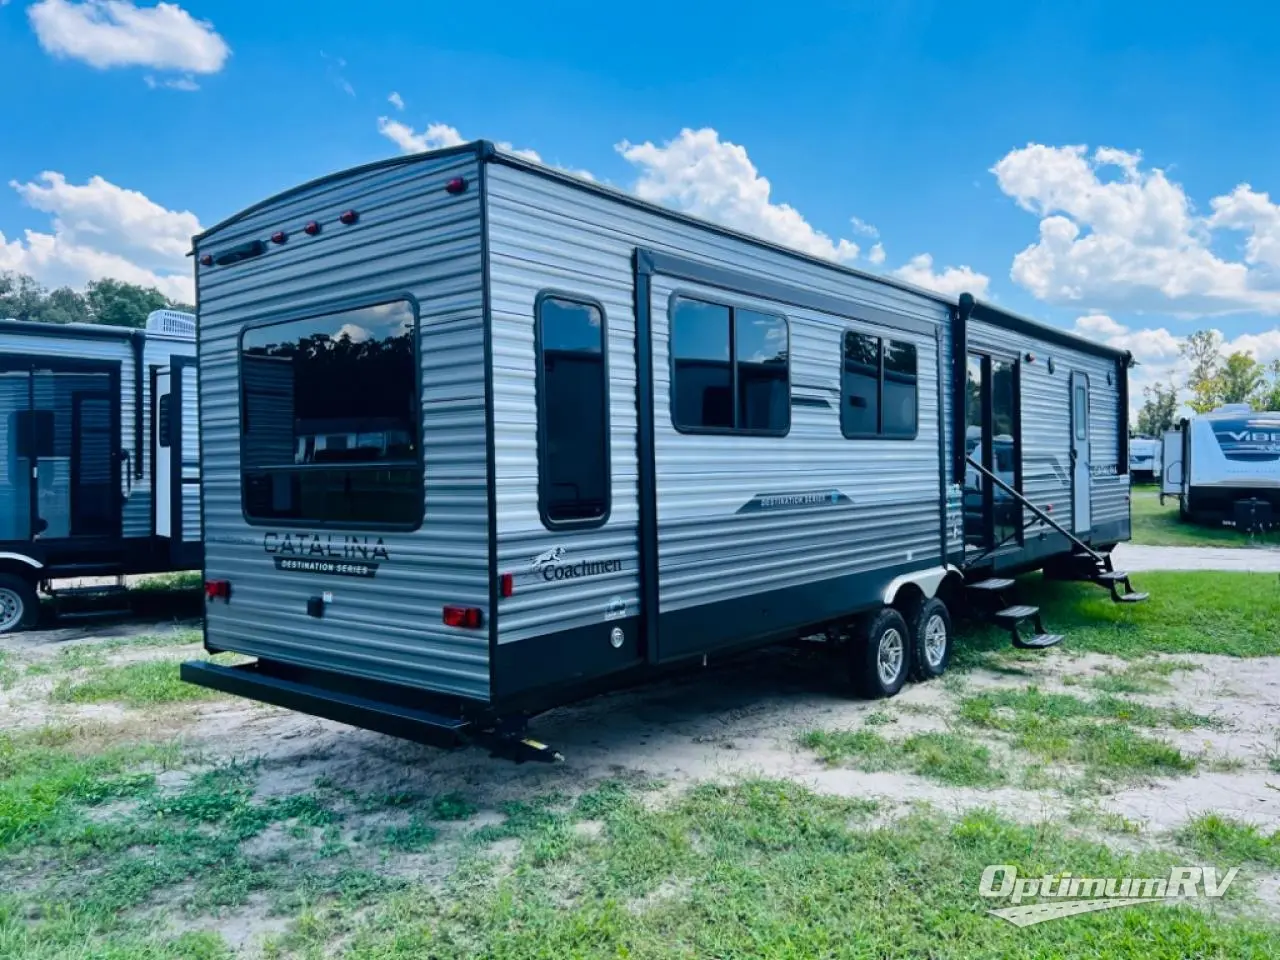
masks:
<path id="1" fill-rule="evenodd" d="M 1029 143 L 993 168 L 1000 189 L 1041 218 L 1039 238 L 1014 257 L 1010 275 L 1039 300 L 1088 301 L 1110 310 L 1175 315 L 1280 312 L 1280 283 L 1263 264 L 1280 210 L 1248 187 L 1215 198 L 1202 218 L 1164 170 L 1114 147 Z M 1261 201 L 1261 202 L 1260 202 Z M 1224 260 L 1216 228 L 1251 232 L 1252 260 Z"/>

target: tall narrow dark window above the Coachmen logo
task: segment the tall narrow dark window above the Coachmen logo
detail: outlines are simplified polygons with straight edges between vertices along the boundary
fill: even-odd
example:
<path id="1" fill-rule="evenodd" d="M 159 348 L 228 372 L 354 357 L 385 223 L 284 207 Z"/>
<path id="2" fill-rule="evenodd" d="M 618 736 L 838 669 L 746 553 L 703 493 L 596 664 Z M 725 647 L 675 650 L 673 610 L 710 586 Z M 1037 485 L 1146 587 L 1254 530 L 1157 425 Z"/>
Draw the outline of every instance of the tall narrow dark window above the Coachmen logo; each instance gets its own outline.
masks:
<path id="1" fill-rule="evenodd" d="M 609 385 L 604 311 L 538 300 L 538 506 L 547 526 L 600 522 L 609 512 Z"/>

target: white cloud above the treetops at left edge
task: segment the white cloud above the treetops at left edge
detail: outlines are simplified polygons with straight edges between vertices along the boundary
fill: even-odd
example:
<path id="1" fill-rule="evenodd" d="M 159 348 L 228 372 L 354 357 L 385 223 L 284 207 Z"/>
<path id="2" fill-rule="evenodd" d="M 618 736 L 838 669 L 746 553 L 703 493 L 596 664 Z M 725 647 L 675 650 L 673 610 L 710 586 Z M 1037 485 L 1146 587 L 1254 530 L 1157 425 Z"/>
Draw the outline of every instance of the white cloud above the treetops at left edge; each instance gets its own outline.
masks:
<path id="1" fill-rule="evenodd" d="M 9 186 L 28 206 L 49 214 L 52 225 L 51 232 L 28 229 L 20 239 L 0 234 L 0 270 L 31 274 L 50 287 L 82 287 L 110 276 L 192 301 L 186 253 L 201 229 L 195 214 L 168 210 L 101 177 L 72 184 L 46 172 L 36 182 Z"/>

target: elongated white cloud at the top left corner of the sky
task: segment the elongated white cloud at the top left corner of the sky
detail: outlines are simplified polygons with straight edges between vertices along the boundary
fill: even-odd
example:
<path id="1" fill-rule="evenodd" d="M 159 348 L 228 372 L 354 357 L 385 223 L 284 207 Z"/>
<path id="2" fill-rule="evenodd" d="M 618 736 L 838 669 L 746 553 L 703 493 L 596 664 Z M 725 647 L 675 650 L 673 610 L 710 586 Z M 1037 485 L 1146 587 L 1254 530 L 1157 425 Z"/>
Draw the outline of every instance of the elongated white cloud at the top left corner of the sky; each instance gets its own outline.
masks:
<path id="1" fill-rule="evenodd" d="M 214 24 L 177 4 L 136 6 L 127 0 L 40 0 L 27 9 L 46 52 L 90 67 L 151 67 L 218 73 L 230 55 Z"/>

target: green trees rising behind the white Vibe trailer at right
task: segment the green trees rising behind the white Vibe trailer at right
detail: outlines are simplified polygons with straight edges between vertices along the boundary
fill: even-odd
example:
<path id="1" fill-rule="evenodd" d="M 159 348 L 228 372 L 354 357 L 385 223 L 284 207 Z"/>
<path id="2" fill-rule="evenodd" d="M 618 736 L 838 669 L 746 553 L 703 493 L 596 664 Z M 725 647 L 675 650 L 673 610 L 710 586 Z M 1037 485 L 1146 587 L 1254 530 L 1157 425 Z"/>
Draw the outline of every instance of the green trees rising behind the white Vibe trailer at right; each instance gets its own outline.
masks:
<path id="1" fill-rule="evenodd" d="M 1192 366 L 1185 383 L 1190 390 L 1187 406 L 1197 413 L 1208 413 L 1225 403 L 1280 410 L 1280 360 L 1262 364 L 1244 351 L 1224 355 L 1222 346 L 1217 330 L 1198 330 L 1183 340 L 1181 353 Z M 1142 394 L 1138 433 L 1161 436 L 1178 421 L 1179 387 L 1172 380 L 1157 383 L 1143 388 Z"/>

